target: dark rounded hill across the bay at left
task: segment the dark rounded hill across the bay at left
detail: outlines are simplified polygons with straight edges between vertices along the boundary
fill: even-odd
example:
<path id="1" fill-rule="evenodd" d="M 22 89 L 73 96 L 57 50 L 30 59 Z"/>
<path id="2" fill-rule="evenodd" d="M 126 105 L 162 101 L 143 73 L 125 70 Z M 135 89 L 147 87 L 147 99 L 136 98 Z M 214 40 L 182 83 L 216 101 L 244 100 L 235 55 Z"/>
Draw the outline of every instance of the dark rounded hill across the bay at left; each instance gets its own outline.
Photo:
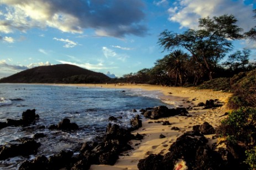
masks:
<path id="1" fill-rule="evenodd" d="M 106 83 L 103 73 L 70 64 L 40 66 L 0 79 L 0 83 Z"/>

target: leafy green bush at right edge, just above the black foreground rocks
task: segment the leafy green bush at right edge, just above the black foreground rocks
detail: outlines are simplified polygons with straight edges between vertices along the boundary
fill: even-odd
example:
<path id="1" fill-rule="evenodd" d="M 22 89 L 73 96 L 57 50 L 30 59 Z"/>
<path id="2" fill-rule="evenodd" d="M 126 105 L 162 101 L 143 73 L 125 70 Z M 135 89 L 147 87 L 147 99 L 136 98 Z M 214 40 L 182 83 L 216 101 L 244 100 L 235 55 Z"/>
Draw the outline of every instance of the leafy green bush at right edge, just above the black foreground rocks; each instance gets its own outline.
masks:
<path id="1" fill-rule="evenodd" d="M 231 111 L 222 120 L 218 134 L 232 141 L 250 143 L 250 136 L 256 131 L 256 108 L 241 107 Z"/>

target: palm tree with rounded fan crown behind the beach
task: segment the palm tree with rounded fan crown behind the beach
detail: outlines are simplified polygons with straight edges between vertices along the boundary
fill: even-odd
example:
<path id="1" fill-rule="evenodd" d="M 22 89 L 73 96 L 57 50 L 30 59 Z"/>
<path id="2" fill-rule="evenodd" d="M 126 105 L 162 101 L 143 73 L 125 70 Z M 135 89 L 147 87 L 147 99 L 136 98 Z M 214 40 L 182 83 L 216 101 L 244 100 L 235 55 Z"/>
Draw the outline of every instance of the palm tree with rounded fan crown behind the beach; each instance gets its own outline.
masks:
<path id="1" fill-rule="evenodd" d="M 183 83 L 183 76 L 185 74 L 185 64 L 189 60 L 189 55 L 182 50 L 175 50 L 169 55 L 165 56 L 165 66 L 170 78 L 175 78 L 175 86 L 177 78 L 180 79 L 180 86 Z"/>

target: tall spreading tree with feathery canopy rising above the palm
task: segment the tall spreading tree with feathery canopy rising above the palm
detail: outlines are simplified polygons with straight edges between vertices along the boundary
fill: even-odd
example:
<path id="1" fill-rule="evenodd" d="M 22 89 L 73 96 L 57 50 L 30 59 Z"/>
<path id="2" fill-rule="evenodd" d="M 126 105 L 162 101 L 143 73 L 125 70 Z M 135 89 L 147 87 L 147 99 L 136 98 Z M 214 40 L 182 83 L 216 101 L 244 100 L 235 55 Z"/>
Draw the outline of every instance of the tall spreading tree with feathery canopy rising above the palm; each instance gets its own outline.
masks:
<path id="1" fill-rule="evenodd" d="M 232 49 L 230 40 L 243 37 L 240 34 L 242 29 L 235 25 L 236 22 L 237 19 L 233 15 L 201 18 L 199 30 L 189 29 L 183 34 L 165 30 L 161 32 L 158 43 L 164 47 L 164 51 L 185 48 L 212 80 L 217 63 Z"/>

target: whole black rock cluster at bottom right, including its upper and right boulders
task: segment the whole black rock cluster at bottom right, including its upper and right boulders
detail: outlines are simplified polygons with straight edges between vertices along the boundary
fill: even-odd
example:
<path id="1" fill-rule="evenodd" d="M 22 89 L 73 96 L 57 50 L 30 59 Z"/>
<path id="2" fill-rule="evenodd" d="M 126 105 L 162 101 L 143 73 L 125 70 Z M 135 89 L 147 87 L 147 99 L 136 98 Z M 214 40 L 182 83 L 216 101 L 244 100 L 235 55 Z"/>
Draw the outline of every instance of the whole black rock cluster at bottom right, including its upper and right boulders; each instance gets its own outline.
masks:
<path id="1" fill-rule="evenodd" d="M 214 134 L 215 130 L 207 122 L 193 127 L 177 138 L 165 155 L 151 154 L 137 165 L 139 170 L 144 169 L 248 169 L 241 164 L 245 159 L 245 150 L 238 144 L 227 142 L 227 148 L 216 149 L 210 147 L 203 134 Z M 180 164 L 182 162 L 182 164 Z"/>

